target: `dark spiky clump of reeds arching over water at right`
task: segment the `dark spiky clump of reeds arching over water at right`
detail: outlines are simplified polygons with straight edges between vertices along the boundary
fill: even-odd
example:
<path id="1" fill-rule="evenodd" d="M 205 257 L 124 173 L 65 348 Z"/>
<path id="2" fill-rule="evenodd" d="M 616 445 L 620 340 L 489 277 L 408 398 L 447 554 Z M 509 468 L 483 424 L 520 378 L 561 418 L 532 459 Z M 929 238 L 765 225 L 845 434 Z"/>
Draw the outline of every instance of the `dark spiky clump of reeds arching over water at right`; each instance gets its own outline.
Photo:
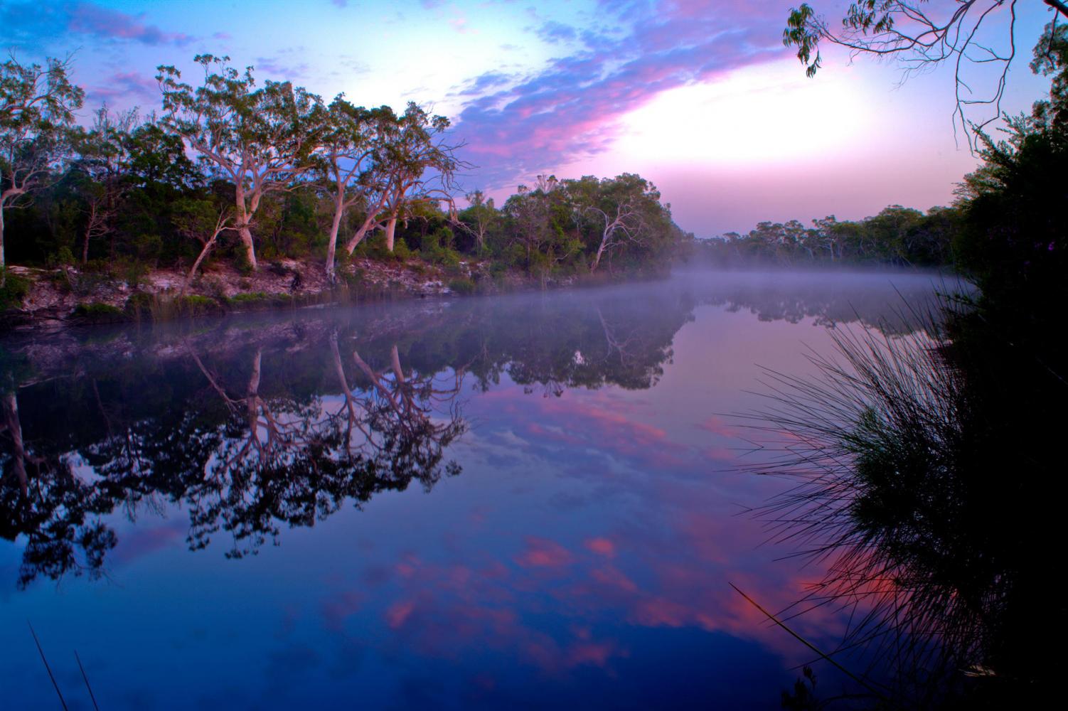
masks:
<path id="1" fill-rule="evenodd" d="M 747 415 L 774 451 L 757 471 L 791 481 L 758 517 L 827 571 L 773 619 L 842 612 L 829 654 L 863 660 L 864 678 L 889 668 L 901 705 L 937 705 L 962 669 L 1005 659 L 1018 567 L 996 524 L 1005 455 L 992 438 L 1007 413 L 955 354 L 946 323 L 964 307 L 906 314 L 908 336 L 838 329 L 833 356 L 810 354 L 816 376 L 766 372 L 769 405 Z"/>

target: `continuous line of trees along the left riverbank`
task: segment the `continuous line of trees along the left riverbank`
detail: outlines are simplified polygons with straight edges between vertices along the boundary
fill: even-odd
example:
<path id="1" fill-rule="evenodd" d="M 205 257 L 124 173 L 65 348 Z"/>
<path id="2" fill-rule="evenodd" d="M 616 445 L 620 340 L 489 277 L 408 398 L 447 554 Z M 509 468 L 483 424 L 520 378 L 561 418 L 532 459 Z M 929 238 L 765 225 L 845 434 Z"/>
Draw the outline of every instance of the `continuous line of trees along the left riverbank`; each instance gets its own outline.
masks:
<path id="1" fill-rule="evenodd" d="M 68 62 L 0 64 L 0 266 L 145 270 L 193 279 L 213 260 L 335 266 L 368 253 L 491 260 L 545 278 L 662 264 L 692 239 L 638 175 L 538 176 L 503 205 L 464 194 L 472 167 L 446 117 L 327 104 L 229 58 L 160 66 L 158 111 L 92 114 Z M 464 207 L 466 205 L 466 207 Z M 20 209 L 13 209 L 20 208 Z"/>

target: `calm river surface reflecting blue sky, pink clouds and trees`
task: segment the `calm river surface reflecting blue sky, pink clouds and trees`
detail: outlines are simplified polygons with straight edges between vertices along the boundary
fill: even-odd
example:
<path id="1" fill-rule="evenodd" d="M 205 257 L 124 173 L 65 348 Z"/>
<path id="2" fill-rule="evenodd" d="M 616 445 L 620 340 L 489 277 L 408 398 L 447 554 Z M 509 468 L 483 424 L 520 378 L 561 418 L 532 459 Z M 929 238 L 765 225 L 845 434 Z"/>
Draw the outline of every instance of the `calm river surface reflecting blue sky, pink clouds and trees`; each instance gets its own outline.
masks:
<path id="1" fill-rule="evenodd" d="M 70 708 L 75 650 L 105 709 L 778 708 L 812 653 L 728 582 L 781 610 L 820 571 L 744 512 L 788 484 L 727 415 L 941 286 L 694 273 L 0 342 L 0 706 L 58 706 L 30 621 Z"/>

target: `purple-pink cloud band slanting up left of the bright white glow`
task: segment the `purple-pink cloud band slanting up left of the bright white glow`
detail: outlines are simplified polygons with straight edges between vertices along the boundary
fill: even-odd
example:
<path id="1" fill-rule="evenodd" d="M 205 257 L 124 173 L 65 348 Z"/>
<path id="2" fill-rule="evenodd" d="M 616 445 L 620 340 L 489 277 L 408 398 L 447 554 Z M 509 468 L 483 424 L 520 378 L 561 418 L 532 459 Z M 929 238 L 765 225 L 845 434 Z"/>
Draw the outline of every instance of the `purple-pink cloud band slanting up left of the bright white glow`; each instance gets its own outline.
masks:
<path id="1" fill-rule="evenodd" d="M 488 91 L 459 113 L 466 157 L 486 187 L 501 188 L 602 153 L 619 118 L 658 94 L 781 57 L 784 6 L 604 1 L 606 29 L 582 33 L 580 51 L 508 86 L 497 86 L 496 72 L 472 80 Z"/>

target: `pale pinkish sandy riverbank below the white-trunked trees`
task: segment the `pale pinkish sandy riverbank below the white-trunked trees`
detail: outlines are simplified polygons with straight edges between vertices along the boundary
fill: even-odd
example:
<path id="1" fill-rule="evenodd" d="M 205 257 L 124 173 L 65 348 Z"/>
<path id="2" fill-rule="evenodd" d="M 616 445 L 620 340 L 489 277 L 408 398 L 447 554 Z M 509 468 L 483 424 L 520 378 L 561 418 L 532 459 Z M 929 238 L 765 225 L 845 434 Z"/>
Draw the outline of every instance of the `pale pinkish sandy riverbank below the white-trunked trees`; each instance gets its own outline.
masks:
<path id="1" fill-rule="evenodd" d="M 500 294 L 575 284 L 575 275 L 541 280 L 469 260 L 440 267 L 419 258 L 354 259 L 330 283 L 317 263 L 278 259 L 255 272 L 215 265 L 183 289 L 178 269 L 143 273 L 114 269 L 12 266 L 0 333 L 90 323 L 170 320 L 208 314 L 393 299 Z M 598 279 L 598 281 L 601 281 Z"/>

